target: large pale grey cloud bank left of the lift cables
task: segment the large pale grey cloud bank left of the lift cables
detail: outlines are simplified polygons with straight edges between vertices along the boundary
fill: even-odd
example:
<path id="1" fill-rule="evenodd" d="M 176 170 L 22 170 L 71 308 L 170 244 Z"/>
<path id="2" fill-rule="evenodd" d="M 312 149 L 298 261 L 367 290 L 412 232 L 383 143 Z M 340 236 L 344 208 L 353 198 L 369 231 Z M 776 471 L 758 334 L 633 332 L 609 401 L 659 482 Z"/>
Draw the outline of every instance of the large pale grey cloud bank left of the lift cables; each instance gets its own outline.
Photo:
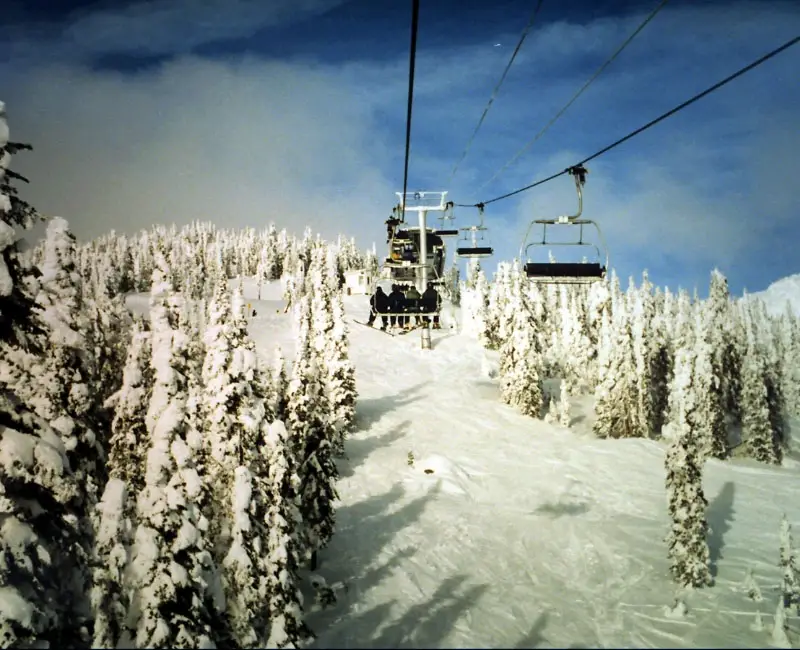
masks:
<path id="1" fill-rule="evenodd" d="M 340 81 L 263 61 L 184 59 L 134 79 L 39 71 L 9 106 L 35 144 L 18 168 L 79 236 L 192 219 L 354 232 L 393 188 L 369 107 Z"/>

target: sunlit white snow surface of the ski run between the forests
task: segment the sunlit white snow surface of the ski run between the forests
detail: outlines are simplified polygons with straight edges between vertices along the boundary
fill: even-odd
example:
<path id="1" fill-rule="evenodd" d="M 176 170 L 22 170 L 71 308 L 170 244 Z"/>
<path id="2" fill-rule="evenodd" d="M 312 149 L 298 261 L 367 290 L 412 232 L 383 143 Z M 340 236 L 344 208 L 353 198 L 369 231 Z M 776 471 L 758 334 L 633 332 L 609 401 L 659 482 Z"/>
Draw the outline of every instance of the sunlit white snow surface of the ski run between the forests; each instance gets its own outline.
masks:
<path id="1" fill-rule="evenodd" d="M 259 353 L 294 354 L 278 283 L 245 281 Z M 146 296 L 131 296 L 146 309 Z M 449 327 L 390 337 L 352 323 L 358 430 L 340 465 L 337 530 L 313 606 L 318 648 L 765 647 L 778 598 L 782 513 L 800 532 L 800 463 L 710 460 L 704 489 L 716 584 L 678 592 L 668 575 L 665 448 L 592 437 L 591 398 L 567 430 L 499 401 L 495 353 Z M 141 303 L 141 304 L 140 304 Z M 487 361 L 488 360 L 488 361 Z M 795 440 L 798 427 L 795 427 Z M 409 454 L 413 465 L 409 465 Z M 764 602 L 744 589 L 753 569 Z M 683 617 L 665 608 L 680 596 Z M 753 631 L 761 610 L 764 631 Z M 800 620 L 789 621 L 794 645 Z"/>

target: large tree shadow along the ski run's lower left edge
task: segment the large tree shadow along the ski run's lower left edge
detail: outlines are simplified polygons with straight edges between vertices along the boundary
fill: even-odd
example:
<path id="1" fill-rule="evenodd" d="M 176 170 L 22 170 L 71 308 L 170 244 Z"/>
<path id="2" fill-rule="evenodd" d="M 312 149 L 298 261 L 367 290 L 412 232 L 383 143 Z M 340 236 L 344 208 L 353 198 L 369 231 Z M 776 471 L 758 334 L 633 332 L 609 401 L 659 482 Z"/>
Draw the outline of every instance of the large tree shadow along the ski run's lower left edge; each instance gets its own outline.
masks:
<path id="1" fill-rule="evenodd" d="M 364 620 L 356 614 L 360 603 L 370 600 L 368 592 L 379 586 L 416 552 L 413 544 L 386 553 L 396 536 L 412 525 L 427 504 L 439 493 L 433 488 L 426 494 L 396 507 L 405 496 L 400 484 L 388 492 L 370 496 L 358 503 L 339 508 L 336 532 L 330 544 L 320 553 L 318 573 L 337 592 L 338 602 L 308 616 L 311 629 L 319 639 L 311 647 L 334 648 L 372 645 L 373 631 L 388 618 L 388 605 L 371 609 L 376 621 Z M 337 585 L 342 588 L 337 589 Z M 313 594 L 308 594 L 309 600 Z M 308 610 L 307 610 L 308 611 Z M 361 621 L 361 622 L 357 622 Z"/>

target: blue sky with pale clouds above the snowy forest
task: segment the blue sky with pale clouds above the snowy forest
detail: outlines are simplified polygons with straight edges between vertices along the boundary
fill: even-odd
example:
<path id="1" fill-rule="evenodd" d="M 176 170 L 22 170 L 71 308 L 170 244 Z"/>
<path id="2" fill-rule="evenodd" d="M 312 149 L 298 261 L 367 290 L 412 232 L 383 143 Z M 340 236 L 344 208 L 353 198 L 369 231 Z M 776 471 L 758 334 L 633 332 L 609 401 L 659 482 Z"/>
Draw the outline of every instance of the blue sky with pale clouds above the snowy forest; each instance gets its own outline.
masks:
<path id="1" fill-rule="evenodd" d="M 410 191 L 488 201 L 800 34 L 796 1 L 670 0 L 496 175 L 658 4 L 544 0 L 453 175 L 535 4 L 422 0 Z M 81 240 L 272 222 L 383 253 L 403 184 L 410 22 L 408 0 L 6 0 L 0 100 L 12 139 L 34 146 L 12 168 Z M 704 294 L 717 267 L 740 293 L 800 272 L 799 63 L 797 45 L 587 165 L 584 216 L 623 284 L 647 269 Z M 569 176 L 487 205 L 484 267 L 518 256 L 532 219 L 575 207 Z M 450 227 L 477 223 L 475 209 L 455 214 Z"/>

